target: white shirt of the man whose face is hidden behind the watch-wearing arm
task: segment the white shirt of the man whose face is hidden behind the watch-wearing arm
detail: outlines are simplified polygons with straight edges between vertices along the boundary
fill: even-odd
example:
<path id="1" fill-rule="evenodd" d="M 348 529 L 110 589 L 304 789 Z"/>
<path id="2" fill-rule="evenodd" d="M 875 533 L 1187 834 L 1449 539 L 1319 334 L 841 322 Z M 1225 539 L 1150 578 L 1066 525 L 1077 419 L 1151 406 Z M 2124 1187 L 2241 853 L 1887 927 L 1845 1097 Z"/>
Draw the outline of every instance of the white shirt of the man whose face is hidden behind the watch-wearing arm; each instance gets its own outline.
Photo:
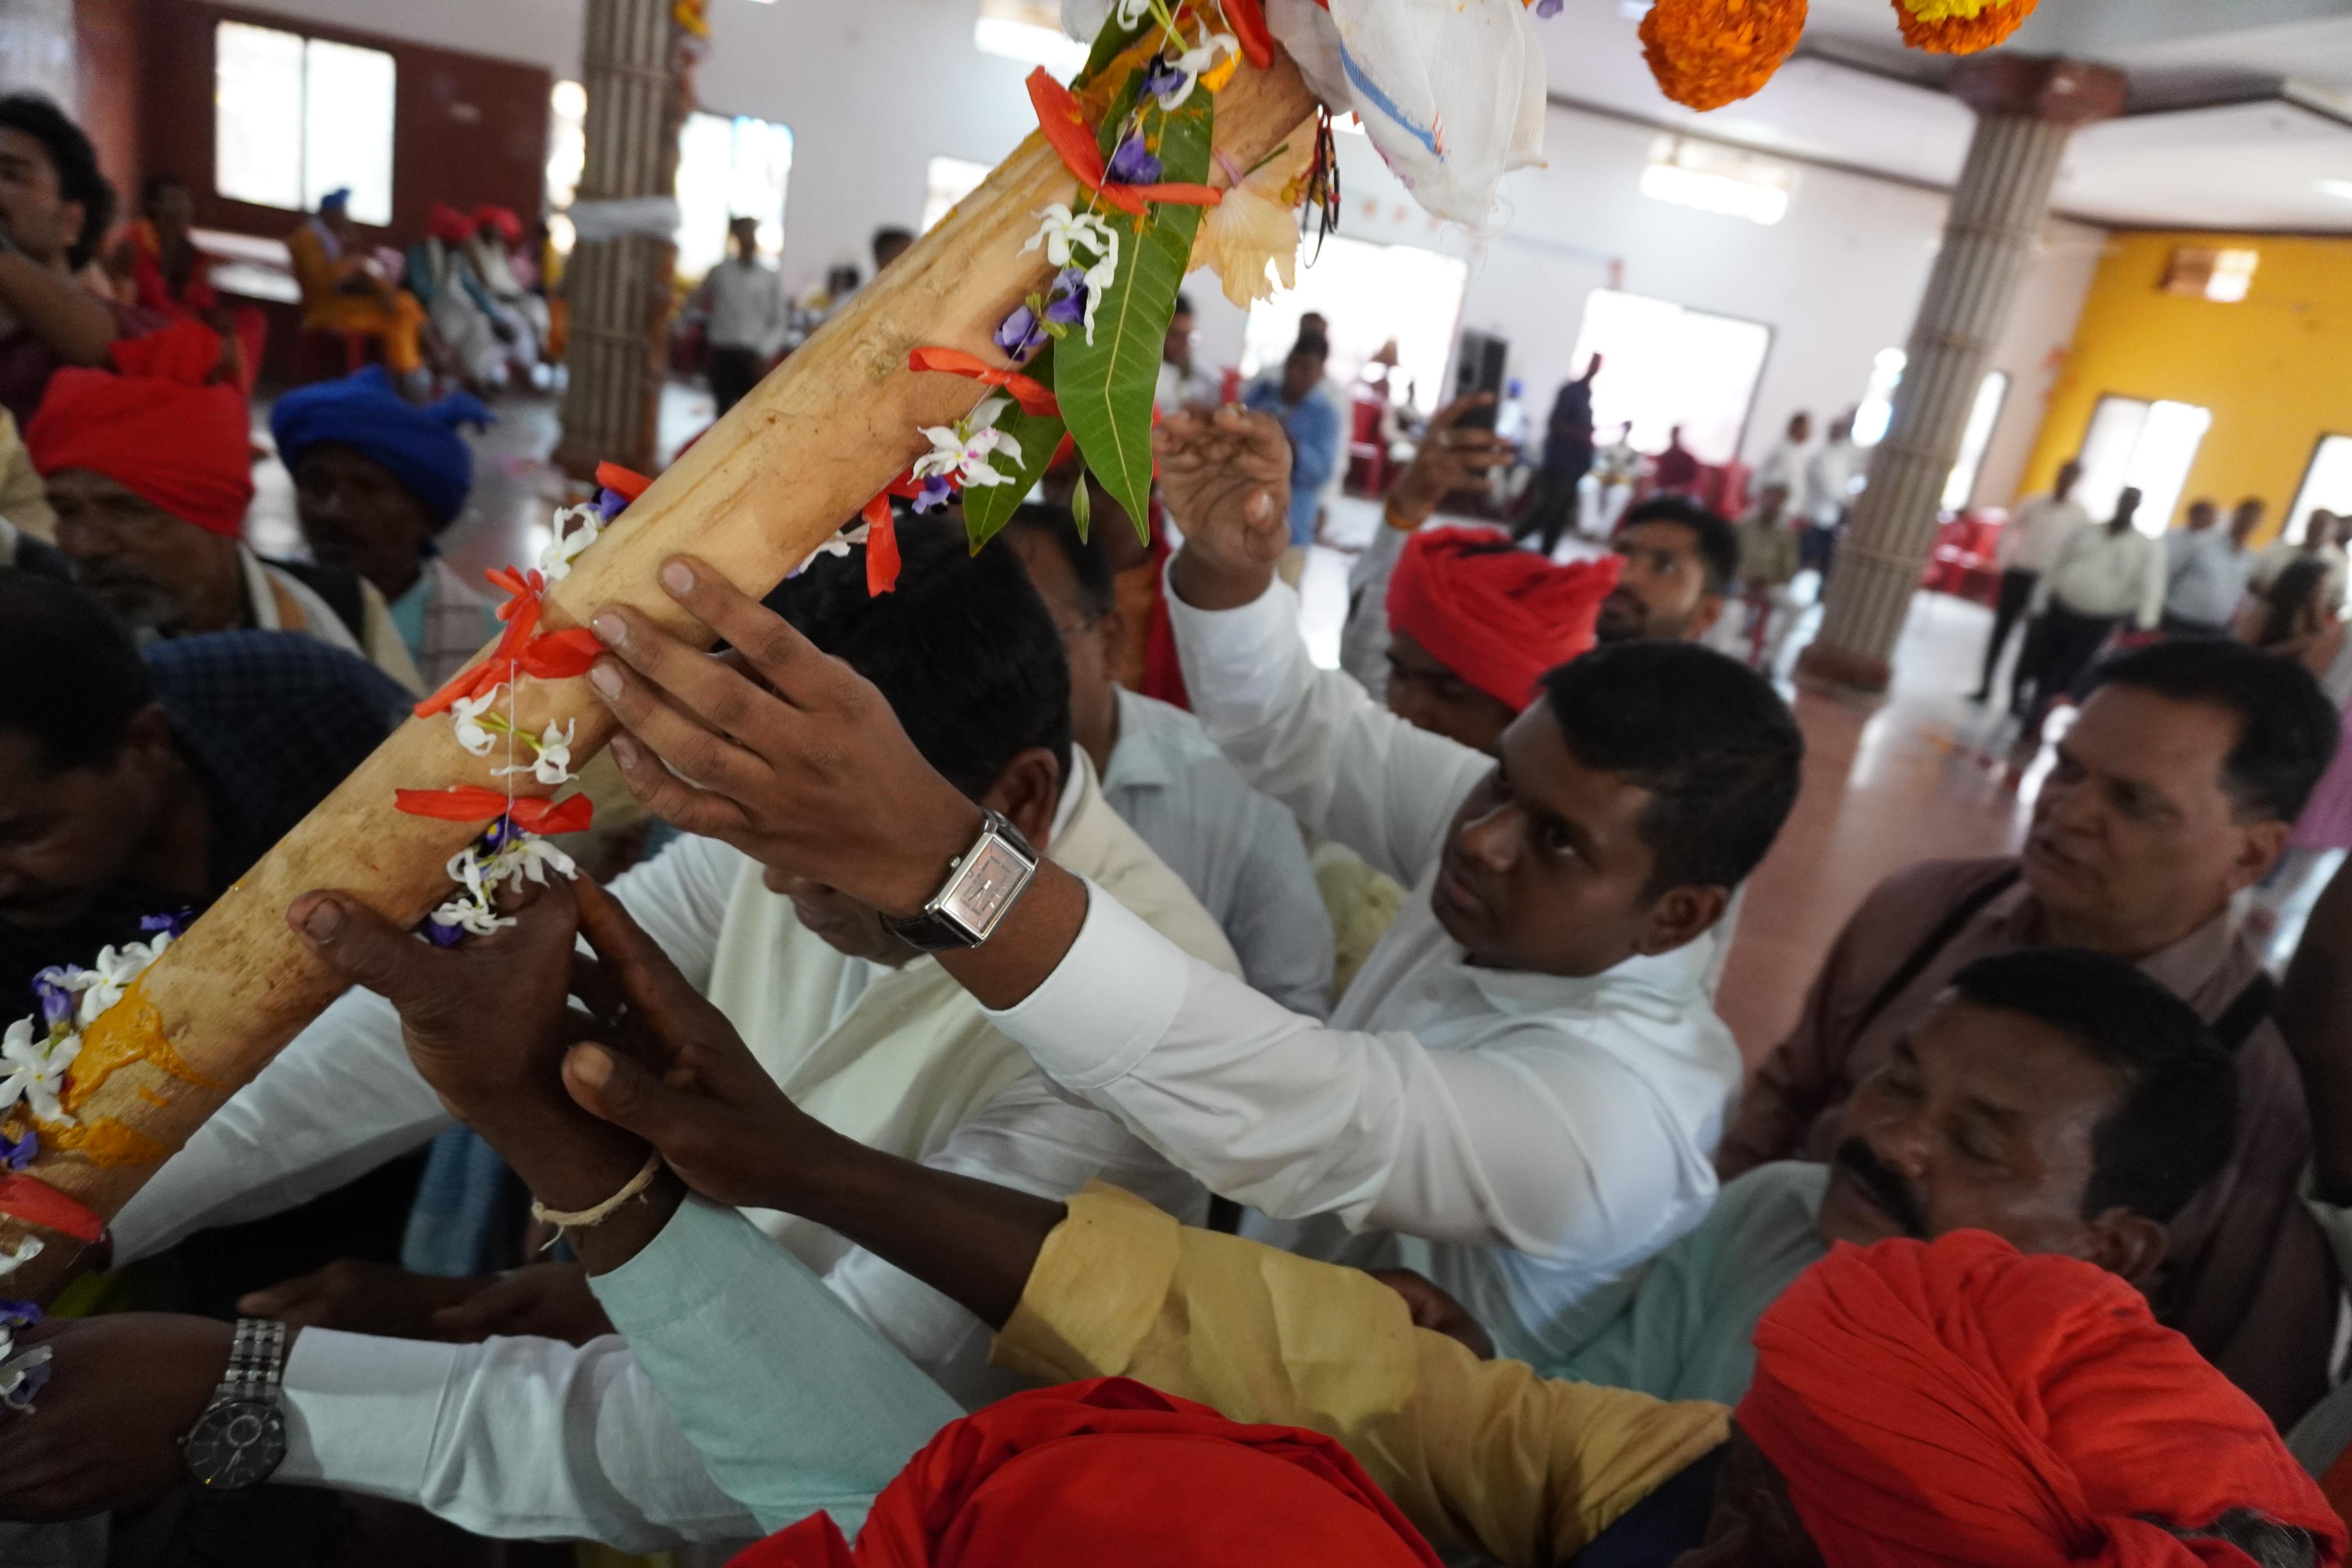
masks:
<path id="1" fill-rule="evenodd" d="M 1169 929 L 1211 973 L 1240 971 L 1207 912 L 1103 804 L 1084 755 L 1047 853 L 1131 898 L 1138 922 Z M 1054 1093 L 936 959 L 889 971 L 842 957 L 800 929 L 743 853 L 682 839 L 612 891 L 828 1126 L 1040 1197 L 1101 1178 L 1174 1213 L 1204 1213 L 1197 1182 L 1115 1119 Z M 390 1004 L 346 992 L 122 1208 L 118 1258 L 278 1213 L 447 1126 Z M 981 1321 L 946 1295 L 804 1220 L 750 1218 L 967 1406 L 1016 1387 L 985 1366 Z M 619 1338 L 574 1349 L 310 1331 L 287 1359 L 285 1394 L 285 1481 L 416 1502 L 480 1535 L 588 1537 L 626 1552 L 760 1535 L 703 1474 Z"/>

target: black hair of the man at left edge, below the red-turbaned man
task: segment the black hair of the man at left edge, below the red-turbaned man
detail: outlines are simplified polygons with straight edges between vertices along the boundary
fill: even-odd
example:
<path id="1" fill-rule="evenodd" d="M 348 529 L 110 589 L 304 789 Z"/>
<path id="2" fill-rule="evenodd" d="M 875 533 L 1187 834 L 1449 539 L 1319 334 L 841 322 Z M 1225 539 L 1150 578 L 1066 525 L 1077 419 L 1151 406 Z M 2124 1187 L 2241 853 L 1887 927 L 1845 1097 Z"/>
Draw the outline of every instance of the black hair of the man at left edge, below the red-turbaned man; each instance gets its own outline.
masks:
<path id="1" fill-rule="evenodd" d="M 71 583 L 0 567 L 0 731 L 40 743 L 52 769 L 106 762 L 155 701 L 146 661 Z"/>

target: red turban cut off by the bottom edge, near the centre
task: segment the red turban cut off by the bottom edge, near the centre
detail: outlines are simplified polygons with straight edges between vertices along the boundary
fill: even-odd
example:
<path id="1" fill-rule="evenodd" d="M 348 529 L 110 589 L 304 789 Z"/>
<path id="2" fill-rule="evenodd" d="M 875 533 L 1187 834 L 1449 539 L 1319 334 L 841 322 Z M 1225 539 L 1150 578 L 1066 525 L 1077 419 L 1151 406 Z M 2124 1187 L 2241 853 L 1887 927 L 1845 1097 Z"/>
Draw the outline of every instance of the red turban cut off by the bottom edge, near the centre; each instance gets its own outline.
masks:
<path id="1" fill-rule="evenodd" d="M 950 1422 L 851 1552 L 826 1514 L 731 1568 L 1437 1568 L 1348 1450 L 1242 1427 L 1127 1378 L 1033 1389 Z"/>

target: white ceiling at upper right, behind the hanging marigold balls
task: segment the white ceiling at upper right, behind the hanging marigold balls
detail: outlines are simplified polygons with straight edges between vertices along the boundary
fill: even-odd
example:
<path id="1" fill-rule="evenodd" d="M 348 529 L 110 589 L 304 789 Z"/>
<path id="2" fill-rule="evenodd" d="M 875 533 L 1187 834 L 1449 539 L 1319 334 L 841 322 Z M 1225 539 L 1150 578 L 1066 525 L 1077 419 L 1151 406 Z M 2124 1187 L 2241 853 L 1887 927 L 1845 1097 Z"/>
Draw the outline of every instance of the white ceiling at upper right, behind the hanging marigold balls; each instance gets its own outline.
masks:
<path id="1" fill-rule="evenodd" d="M 1764 92 L 1708 115 L 1649 80 L 1644 9 L 1571 0 L 1538 24 L 1552 96 L 1907 181 L 1959 174 L 1973 115 L 1938 87 L 1950 61 L 1900 47 L 1891 0 L 1811 0 L 1799 54 Z M 2042 0 L 2011 47 L 2131 78 L 2131 110 L 2067 148 L 2060 212 L 2352 233 L 2352 0 Z"/>

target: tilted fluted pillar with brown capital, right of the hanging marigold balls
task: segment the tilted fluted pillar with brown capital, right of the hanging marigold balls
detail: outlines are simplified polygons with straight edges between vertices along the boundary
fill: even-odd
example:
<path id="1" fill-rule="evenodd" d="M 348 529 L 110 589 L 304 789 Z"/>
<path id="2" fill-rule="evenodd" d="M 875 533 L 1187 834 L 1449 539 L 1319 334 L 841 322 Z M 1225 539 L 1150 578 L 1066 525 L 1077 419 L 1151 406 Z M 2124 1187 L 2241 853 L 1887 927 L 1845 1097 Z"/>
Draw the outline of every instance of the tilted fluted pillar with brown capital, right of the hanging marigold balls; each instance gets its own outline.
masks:
<path id="1" fill-rule="evenodd" d="M 2119 113 L 2126 82 L 2084 61 L 1980 54 L 1952 92 L 1978 113 L 1976 139 L 1912 322 L 1886 440 L 1870 454 L 1870 487 L 1837 545 L 1820 635 L 1797 661 L 1809 679 L 1860 691 L 1886 689 L 1969 407 L 2042 240 L 2067 136 Z"/>

